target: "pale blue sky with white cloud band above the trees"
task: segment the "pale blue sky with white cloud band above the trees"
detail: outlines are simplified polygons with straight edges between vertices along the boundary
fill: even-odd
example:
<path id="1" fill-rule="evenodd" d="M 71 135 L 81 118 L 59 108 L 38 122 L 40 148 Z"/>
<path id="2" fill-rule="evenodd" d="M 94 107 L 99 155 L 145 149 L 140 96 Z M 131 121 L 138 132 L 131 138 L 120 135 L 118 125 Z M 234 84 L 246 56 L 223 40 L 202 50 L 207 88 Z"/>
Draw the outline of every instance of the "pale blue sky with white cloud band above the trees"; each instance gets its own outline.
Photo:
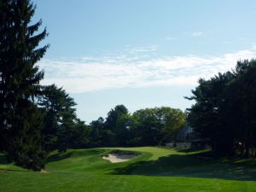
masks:
<path id="1" fill-rule="evenodd" d="M 34 0 L 50 44 L 42 84 L 63 87 L 87 124 L 116 105 L 183 111 L 200 78 L 256 58 L 254 0 Z"/>

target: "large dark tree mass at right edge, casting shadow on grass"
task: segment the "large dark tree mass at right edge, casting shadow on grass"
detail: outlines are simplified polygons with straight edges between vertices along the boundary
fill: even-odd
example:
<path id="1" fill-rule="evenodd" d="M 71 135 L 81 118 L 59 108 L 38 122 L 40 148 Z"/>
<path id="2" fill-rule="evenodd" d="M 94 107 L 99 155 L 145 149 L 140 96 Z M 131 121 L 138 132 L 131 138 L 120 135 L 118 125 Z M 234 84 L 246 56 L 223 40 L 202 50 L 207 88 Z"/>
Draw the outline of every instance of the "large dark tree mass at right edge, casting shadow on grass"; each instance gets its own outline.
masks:
<path id="1" fill-rule="evenodd" d="M 238 61 L 236 68 L 199 79 L 192 90 L 189 125 L 211 141 L 217 154 L 256 156 L 256 60 Z"/>

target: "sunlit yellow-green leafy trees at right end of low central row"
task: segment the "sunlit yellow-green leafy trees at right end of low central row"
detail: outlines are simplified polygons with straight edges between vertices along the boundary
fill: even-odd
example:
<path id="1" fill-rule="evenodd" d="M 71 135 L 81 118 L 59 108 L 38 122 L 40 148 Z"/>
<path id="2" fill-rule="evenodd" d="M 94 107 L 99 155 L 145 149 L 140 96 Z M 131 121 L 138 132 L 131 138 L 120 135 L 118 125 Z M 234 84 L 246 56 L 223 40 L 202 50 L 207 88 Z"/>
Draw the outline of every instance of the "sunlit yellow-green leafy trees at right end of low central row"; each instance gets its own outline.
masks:
<path id="1" fill-rule="evenodd" d="M 184 113 L 175 108 L 146 108 L 133 113 L 131 128 L 133 145 L 160 145 L 175 140 L 177 131 L 185 125 Z"/>

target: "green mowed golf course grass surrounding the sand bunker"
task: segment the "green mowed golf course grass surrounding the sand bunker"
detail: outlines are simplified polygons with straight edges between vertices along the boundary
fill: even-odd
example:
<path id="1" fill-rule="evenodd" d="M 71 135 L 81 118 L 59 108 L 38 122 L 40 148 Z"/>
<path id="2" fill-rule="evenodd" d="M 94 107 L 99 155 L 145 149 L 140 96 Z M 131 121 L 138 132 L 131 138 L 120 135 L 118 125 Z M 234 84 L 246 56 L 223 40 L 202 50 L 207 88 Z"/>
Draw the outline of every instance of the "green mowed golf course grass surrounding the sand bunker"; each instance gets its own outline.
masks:
<path id="1" fill-rule="evenodd" d="M 139 153 L 134 160 L 102 160 L 112 150 Z M 0 162 L 1 192 L 256 192 L 254 160 L 207 158 L 204 152 L 166 148 L 69 149 L 49 156 L 48 173 Z"/>

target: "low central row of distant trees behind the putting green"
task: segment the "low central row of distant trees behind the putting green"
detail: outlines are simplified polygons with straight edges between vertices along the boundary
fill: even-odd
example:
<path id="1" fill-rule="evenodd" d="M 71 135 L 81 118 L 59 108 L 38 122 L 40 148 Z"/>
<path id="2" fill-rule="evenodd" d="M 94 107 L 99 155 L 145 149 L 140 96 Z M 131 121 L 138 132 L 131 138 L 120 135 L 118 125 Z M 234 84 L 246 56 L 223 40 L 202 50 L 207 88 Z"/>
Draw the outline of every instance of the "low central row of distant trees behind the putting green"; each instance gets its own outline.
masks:
<path id="1" fill-rule="evenodd" d="M 174 140 L 184 125 L 185 115 L 179 109 L 146 108 L 130 114 L 118 105 L 106 121 L 99 118 L 90 123 L 90 146 L 161 145 Z"/>

